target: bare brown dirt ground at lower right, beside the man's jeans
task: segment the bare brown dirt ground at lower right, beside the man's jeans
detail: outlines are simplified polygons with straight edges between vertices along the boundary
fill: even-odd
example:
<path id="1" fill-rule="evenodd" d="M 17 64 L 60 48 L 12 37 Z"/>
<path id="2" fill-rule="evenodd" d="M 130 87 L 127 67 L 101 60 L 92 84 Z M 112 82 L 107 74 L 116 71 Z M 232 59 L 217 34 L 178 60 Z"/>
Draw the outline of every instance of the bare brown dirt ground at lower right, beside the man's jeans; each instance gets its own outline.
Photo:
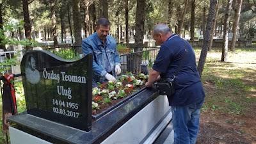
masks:
<path id="1" fill-rule="evenodd" d="M 206 93 L 214 93 L 214 83 L 204 83 Z M 226 95 L 228 97 L 228 95 Z M 225 97 L 225 96 L 224 96 Z M 251 104 L 256 109 L 256 104 Z M 255 111 L 243 111 L 243 115 L 228 114 L 221 110 L 202 110 L 197 144 L 256 144 Z"/>

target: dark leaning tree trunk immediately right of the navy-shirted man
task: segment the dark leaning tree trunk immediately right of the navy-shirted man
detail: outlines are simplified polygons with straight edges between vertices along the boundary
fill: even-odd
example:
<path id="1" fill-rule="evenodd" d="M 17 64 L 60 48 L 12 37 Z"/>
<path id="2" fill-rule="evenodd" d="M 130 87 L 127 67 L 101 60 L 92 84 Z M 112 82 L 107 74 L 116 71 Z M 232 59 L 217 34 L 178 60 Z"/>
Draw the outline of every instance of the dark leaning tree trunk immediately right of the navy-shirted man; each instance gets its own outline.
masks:
<path id="1" fill-rule="evenodd" d="M 208 19 L 207 19 L 207 26 L 205 29 L 204 43 L 202 46 L 202 51 L 200 54 L 200 58 L 198 61 L 198 67 L 197 67 L 200 77 L 202 76 L 202 73 L 204 70 L 204 64 L 205 64 L 205 60 L 206 60 L 206 56 L 207 56 L 207 51 L 208 51 L 208 47 L 209 47 L 210 40 L 211 40 L 211 29 L 212 29 L 212 24 L 214 22 L 216 4 L 217 4 L 217 0 L 211 0 L 211 4 L 210 4 L 210 8 L 209 8 L 209 15 L 208 15 Z"/>

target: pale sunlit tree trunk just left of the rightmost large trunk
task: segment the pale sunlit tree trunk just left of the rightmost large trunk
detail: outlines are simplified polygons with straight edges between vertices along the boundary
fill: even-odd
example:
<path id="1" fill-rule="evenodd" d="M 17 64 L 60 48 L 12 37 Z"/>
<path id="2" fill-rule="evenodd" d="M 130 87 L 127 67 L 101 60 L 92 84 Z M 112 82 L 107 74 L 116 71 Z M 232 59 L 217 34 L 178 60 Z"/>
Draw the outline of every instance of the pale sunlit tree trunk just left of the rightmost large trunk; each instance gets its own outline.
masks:
<path id="1" fill-rule="evenodd" d="M 228 28 L 229 28 L 229 22 L 230 22 L 230 14 L 232 10 L 232 2 L 233 0 L 227 0 L 227 8 L 225 13 L 224 29 L 223 29 L 223 45 L 222 45 L 221 61 L 227 61 L 227 57 L 228 57 Z"/>

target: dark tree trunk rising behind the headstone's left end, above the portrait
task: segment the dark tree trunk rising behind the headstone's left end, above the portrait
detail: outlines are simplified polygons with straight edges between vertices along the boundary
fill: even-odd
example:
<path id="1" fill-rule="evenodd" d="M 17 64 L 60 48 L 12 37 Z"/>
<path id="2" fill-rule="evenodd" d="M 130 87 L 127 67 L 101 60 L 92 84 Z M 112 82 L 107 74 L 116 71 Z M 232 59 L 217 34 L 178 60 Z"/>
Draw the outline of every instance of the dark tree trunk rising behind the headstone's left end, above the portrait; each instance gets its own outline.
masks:
<path id="1" fill-rule="evenodd" d="M 25 28 L 25 36 L 26 39 L 31 40 L 31 25 L 29 19 L 29 10 L 28 10 L 28 0 L 22 0 L 22 8 L 23 8 L 23 15 L 24 15 L 24 28 Z M 30 46 L 26 46 L 26 50 L 32 49 Z"/>

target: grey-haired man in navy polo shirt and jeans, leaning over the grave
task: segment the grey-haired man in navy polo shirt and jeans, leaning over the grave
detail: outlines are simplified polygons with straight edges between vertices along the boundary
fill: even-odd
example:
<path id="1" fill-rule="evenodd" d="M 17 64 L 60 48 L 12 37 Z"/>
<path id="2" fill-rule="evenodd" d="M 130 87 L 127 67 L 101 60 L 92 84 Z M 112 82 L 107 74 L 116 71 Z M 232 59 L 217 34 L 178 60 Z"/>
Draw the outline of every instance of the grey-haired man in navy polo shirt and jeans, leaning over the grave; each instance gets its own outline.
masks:
<path id="1" fill-rule="evenodd" d="M 175 93 L 168 97 L 172 107 L 174 143 L 194 144 L 198 135 L 200 108 L 205 97 L 196 68 L 195 52 L 188 42 L 172 34 L 166 24 L 154 26 L 152 36 L 161 47 L 145 85 L 153 86 L 160 77 L 173 78 L 182 63 L 174 79 Z"/>

